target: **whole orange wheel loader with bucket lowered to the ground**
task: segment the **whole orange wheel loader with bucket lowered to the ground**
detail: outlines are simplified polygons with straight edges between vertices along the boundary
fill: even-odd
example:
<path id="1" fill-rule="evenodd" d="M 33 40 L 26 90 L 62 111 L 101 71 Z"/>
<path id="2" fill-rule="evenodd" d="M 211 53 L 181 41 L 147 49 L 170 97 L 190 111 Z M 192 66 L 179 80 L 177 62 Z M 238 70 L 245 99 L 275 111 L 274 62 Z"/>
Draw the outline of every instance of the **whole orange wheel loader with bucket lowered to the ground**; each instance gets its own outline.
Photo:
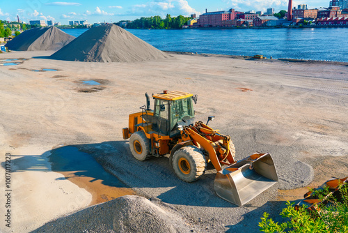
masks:
<path id="1" fill-rule="evenodd" d="M 278 181 L 269 153 L 254 153 L 236 161 L 230 136 L 207 126 L 214 117 L 209 117 L 207 123 L 195 121 L 193 103 L 197 103 L 197 95 L 182 91 L 152 94 L 153 110 L 148 93 L 145 97 L 146 105 L 140 107 L 141 112 L 129 114 L 129 125 L 122 129 L 123 138 L 129 138 L 130 151 L 137 160 L 169 154 L 175 174 L 186 182 L 200 179 L 207 163 L 212 163 L 217 172 L 216 194 L 238 206 Z"/>

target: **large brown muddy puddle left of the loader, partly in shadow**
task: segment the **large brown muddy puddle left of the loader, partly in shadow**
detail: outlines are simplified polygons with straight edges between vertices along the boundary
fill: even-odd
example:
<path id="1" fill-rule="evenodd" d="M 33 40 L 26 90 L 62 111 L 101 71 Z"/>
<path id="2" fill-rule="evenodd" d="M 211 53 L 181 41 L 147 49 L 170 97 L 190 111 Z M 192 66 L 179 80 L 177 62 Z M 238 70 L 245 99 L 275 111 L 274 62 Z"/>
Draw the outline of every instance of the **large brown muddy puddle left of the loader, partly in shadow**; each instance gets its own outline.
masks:
<path id="1" fill-rule="evenodd" d="M 51 152 L 49 162 L 52 171 L 63 174 L 65 179 L 91 193 L 93 200 L 90 205 L 135 195 L 134 190 L 106 172 L 89 153 L 81 152 L 74 146 L 63 146 Z"/>

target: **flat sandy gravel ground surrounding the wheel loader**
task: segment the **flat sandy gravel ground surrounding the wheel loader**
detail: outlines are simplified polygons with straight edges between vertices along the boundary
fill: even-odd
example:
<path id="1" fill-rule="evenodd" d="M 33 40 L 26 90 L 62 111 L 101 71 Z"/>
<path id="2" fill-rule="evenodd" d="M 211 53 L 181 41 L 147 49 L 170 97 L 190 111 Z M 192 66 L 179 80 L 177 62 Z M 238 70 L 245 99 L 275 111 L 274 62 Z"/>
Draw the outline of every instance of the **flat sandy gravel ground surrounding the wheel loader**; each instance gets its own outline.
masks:
<path id="1" fill-rule="evenodd" d="M 278 216 L 284 200 L 302 198 L 307 186 L 347 176 L 342 163 L 348 158 L 346 63 L 175 53 L 170 59 L 134 63 L 38 58 L 50 54 L 0 54 L 2 60 L 22 58 L 17 65 L 0 66 L 1 164 L 6 153 L 13 155 L 12 227 L 3 221 L 2 232 L 30 232 L 90 204 L 87 190 L 52 171 L 47 156 L 63 146 L 89 153 L 104 170 L 160 209 L 175 212 L 194 232 L 244 232 L 245 227 L 256 232 L 264 211 Z M 57 71 L 33 71 L 45 68 Z M 100 85 L 83 82 L 88 80 Z M 237 159 L 255 151 L 271 153 L 278 184 L 237 207 L 214 193 L 212 167 L 203 179 L 185 183 L 168 158 L 134 160 L 122 128 L 129 114 L 145 104 L 145 92 L 164 89 L 198 94 L 196 119 L 214 115 L 209 125 L 231 136 Z M 1 203 L 4 198 L 0 196 Z M 79 216 L 81 224 L 92 221 Z M 113 230 L 112 224 L 107 227 Z M 63 230 L 69 231 L 52 229 Z"/>

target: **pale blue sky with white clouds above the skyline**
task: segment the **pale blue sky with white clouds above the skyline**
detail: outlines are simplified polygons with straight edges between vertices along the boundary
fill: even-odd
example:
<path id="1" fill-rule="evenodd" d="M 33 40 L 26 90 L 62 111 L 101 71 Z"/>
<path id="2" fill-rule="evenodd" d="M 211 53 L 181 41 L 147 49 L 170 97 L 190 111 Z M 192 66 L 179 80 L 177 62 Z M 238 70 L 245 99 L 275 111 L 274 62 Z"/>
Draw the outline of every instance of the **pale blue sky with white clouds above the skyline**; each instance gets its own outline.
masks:
<path id="1" fill-rule="evenodd" d="M 330 0 L 293 0 L 293 6 L 307 4 L 308 8 L 329 7 Z M 29 20 L 53 20 L 68 24 L 70 20 L 95 22 L 119 22 L 140 17 L 159 15 L 200 15 L 217 10 L 234 8 L 236 11 L 266 11 L 267 8 L 287 10 L 287 0 L 15 0 L 0 2 L 0 20 L 29 22 Z"/>

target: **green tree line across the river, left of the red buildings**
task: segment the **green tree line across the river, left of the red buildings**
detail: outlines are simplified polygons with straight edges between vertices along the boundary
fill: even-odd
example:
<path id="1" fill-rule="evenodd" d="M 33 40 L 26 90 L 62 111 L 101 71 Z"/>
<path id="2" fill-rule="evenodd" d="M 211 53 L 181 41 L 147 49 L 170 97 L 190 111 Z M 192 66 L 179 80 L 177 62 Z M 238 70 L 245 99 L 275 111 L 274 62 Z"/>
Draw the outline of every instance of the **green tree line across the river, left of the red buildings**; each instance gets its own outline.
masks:
<path id="1" fill-rule="evenodd" d="M 191 17 L 179 15 L 171 17 L 166 15 L 165 19 L 160 16 L 141 17 L 127 24 L 127 29 L 181 29 Z"/>

